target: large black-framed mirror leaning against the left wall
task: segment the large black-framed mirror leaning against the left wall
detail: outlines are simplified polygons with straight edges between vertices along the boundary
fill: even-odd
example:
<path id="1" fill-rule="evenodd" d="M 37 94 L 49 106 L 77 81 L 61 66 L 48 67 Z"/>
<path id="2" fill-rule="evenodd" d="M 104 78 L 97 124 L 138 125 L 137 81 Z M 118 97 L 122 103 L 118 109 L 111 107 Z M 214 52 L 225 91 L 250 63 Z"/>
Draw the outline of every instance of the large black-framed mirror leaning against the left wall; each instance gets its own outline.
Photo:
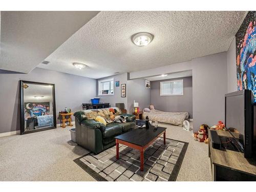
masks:
<path id="1" fill-rule="evenodd" d="M 56 128 L 54 84 L 20 80 L 20 134 Z"/>

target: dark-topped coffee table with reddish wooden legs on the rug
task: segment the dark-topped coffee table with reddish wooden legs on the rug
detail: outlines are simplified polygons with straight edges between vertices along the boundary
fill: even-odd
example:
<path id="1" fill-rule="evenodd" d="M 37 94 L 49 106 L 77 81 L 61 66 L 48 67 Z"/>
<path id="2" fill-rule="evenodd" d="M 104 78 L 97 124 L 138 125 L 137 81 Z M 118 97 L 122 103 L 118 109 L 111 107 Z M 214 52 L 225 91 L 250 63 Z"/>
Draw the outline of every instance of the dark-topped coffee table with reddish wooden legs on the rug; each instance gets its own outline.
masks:
<path id="1" fill-rule="evenodd" d="M 163 134 L 163 143 L 165 144 L 166 127 L 150 126 L 149 129 L 135 129 L 115 137 L 116 139 L 116 159 L 119 159 L 119 143 L 135 148 L 140 151 L 140 170 L 143 170 L 144 151 L 151 143 Z"/>

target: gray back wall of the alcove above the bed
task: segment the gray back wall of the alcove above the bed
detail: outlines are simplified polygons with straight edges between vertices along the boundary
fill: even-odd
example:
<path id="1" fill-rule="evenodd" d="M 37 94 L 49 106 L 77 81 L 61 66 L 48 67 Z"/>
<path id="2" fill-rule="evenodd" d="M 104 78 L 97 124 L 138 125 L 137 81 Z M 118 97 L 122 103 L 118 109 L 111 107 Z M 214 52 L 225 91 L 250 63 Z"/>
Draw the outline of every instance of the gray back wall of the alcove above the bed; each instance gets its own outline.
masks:
<path id="1" fill-rule="evenodd" d="M 160 96 L 160 82 L 183 79 L 183 95 Z M 151 103 L 155 109 L 169 112 L 188 112 L 193 118 L 192 77 L 151 81 Z"/>

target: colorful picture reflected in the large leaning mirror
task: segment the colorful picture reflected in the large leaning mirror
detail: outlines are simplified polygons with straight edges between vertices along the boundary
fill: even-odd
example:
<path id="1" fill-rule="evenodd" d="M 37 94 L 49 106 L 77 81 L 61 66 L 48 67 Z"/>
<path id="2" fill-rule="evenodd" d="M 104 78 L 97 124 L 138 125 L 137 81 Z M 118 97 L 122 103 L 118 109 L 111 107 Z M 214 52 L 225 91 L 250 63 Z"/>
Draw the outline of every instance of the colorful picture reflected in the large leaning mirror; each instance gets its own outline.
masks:
<path id="1" fill-rule="evenodd" d="M 50 102 L 25 102 L 25 119 L 50 115 Z"/>

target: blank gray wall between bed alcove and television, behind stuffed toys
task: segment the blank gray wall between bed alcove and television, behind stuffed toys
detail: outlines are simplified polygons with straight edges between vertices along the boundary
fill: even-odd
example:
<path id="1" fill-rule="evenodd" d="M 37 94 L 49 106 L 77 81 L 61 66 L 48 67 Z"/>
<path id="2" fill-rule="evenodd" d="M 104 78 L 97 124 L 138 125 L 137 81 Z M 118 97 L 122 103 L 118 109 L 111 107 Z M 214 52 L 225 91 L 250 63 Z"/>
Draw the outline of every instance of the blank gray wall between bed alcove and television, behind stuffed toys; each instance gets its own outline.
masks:
<path id="1" fill-rule="evenodd" d="M 225 119 L 226 52 L 193 59 L 193 126 L 212 126 Z"/>

